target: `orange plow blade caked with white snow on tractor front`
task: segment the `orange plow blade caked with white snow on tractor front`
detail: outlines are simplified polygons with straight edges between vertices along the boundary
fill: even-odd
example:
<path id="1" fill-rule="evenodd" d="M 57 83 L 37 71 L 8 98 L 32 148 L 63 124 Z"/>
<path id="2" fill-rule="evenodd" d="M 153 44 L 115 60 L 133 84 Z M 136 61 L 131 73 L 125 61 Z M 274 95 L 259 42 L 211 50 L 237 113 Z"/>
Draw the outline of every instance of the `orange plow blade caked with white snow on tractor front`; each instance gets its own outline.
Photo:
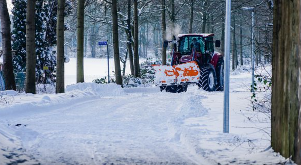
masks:
<path id="1" fill-rule="evenodd" d="M 168 66 L 154 66 L 156 70 L 155 83 L 159 86 L 197 83 L 200 78 L 200 69 L 197 62 Z"/>

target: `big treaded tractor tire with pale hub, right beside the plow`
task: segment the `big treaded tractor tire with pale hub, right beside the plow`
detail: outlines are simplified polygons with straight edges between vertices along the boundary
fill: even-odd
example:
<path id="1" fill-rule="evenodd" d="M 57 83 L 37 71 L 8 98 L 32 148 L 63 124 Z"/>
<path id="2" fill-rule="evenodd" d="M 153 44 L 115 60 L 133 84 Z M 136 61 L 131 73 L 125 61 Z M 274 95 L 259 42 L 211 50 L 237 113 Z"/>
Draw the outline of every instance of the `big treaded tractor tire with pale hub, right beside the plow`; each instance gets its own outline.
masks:
<path id="1" fill-rule="evenodd" d="M 197 83 L 199 88 L 202 88 L 208 92 L 215 91 L 216 73 L 214 67 L 211 64 L 202 66 L 200 68 L 200 74 L 201 76 L 199 82 Z"/>

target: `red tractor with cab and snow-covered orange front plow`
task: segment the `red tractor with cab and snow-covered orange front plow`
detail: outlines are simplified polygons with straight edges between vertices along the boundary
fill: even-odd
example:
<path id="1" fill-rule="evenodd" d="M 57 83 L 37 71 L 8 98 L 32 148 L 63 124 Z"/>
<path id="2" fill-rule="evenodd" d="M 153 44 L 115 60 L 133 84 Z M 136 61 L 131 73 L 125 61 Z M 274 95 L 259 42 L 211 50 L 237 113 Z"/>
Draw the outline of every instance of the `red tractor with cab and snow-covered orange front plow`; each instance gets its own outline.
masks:
<path id="1" fill-rule="evenodd" d="M 186 92 L 189 84 L 196 83 L 205 91 L 224 90 L 224 57 L 214 51 L 220 47 L 214 34 L 180 34 L 172 42 L 171 64 L 155 66 L 156 84 L 166 92 Z"/>

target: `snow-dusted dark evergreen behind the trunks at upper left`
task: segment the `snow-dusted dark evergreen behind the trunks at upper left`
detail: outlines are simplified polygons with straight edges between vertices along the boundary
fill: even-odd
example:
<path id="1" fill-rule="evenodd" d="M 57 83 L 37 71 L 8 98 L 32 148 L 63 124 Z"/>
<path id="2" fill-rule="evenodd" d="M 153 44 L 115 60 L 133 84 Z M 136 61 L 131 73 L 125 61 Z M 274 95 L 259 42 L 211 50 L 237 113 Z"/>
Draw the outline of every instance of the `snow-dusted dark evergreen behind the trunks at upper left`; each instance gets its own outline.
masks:
<path id="1" fill-rule="evenodd" d="M 14 72 L 26 71 L 26 4 L 27 0 L 13 0 L 13 50 Z M 71 13 L 71 3 L 66 3 L 65 15 Z M 57 1 L 36 0 L 36 83 L 54 83 L 56 74 L 56 18 Z M 65 26 L 66 27 L 66 26 Z M 65 28 L 67 29 L 67 28 Z M 43 66 L 48 66 L 46 80 Z"/>

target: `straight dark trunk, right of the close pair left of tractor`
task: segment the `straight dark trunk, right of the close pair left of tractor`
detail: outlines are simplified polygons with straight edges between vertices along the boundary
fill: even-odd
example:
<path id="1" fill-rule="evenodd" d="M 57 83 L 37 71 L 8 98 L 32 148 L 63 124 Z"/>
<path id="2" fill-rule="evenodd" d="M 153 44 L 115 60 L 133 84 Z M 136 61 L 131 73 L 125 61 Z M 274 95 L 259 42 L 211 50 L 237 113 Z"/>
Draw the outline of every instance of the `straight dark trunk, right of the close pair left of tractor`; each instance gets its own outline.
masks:
<path id="1" fill-rule="evenodd" d="M 140 77 L 138 46 L 138 0 L 134 0 L 134 76 L 136 77 Z"/>

